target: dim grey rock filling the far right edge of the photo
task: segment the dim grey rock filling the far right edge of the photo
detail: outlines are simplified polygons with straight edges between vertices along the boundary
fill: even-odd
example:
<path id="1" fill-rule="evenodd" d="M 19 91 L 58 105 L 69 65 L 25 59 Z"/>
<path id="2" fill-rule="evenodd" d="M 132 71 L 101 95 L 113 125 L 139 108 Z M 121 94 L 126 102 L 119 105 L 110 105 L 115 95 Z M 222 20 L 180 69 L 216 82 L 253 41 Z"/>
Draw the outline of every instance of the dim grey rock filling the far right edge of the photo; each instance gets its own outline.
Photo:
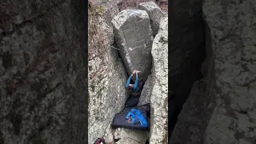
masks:
<path id="1" fill-rule="evenodd" d="M 256 2 L 205 1 L 217 98 L 206 143 L 255 142 Z M 224 136 L 225 135 L 225 136 Z"/>

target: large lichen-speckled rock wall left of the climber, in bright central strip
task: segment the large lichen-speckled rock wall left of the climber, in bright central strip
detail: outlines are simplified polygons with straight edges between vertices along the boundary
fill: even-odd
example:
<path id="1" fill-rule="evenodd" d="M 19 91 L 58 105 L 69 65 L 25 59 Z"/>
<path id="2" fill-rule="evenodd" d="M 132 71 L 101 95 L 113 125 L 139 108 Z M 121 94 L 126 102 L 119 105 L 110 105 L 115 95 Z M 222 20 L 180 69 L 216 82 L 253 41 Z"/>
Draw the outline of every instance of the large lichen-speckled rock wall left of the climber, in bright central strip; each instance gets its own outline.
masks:
<path id="1" fill-rule="evenodd" d="M 109 126 L 114 114 L 122 110 L 126 102 L 126 71 L 118 58 L 118 51 L 110 48 L 114 42 L 112 26 L 107 24 L 108 11 L 102 10 L 100 14 L 93 14 L 94 10 L 102 10 L 101 6 L 91 6 L 89 31 L 89 51 L 95 55 L 89 62 L 89 143 L 101 138 Z M 103 42 L 94 45 L 96 42 Z"/>

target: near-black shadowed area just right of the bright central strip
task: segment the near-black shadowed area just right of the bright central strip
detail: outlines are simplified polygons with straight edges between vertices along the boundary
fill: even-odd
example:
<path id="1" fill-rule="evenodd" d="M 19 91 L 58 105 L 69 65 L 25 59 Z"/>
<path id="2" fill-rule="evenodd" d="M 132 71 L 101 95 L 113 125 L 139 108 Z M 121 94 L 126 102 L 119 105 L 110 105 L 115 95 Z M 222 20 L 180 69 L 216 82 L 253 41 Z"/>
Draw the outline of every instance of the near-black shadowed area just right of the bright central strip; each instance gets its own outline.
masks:
<path id="1" fill-rule="evenodd" d="M 169 111 L 173 115 L 168 121 L 171 134 L 193 83 L 202 78 L 200 71 L 206 51 L 202 1 L 170 1 L 169 17 L 172 27 L 169 32 L 169 88 L 176 94 L 176 97 L 171 98 L 175 106 Z"/>

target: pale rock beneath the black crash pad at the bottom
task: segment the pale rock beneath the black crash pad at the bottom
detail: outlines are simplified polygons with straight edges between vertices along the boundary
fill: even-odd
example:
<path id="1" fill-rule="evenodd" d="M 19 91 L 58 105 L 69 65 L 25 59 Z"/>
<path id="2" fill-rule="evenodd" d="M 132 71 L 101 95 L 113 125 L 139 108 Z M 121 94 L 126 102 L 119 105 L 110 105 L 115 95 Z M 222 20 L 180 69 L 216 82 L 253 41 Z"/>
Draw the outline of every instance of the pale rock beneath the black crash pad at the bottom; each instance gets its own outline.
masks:
<path id="1" fill-rule="evenodd" d="M 115 144 L 145 144 L 148 134 L 147 131 L 118 128 L 114 132 L 114 139 L 118 139 Z"/>

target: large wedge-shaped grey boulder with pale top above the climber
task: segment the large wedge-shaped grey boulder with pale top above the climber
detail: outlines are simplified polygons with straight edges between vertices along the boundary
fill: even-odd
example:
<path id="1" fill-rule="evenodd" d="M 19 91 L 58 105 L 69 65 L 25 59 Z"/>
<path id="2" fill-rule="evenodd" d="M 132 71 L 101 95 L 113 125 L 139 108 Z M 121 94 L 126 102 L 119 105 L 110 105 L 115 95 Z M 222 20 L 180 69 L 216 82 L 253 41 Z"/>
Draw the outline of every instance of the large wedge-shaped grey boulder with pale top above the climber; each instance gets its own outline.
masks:
<path id="1" fill-rule="evenodd" d="M 129 74 L 142 71 L 146 79 L 152 68 L 150 54 L 153 42 L 149 15 L 144 10 L 122 10 L 112 20 L 114 39 Z"/>

